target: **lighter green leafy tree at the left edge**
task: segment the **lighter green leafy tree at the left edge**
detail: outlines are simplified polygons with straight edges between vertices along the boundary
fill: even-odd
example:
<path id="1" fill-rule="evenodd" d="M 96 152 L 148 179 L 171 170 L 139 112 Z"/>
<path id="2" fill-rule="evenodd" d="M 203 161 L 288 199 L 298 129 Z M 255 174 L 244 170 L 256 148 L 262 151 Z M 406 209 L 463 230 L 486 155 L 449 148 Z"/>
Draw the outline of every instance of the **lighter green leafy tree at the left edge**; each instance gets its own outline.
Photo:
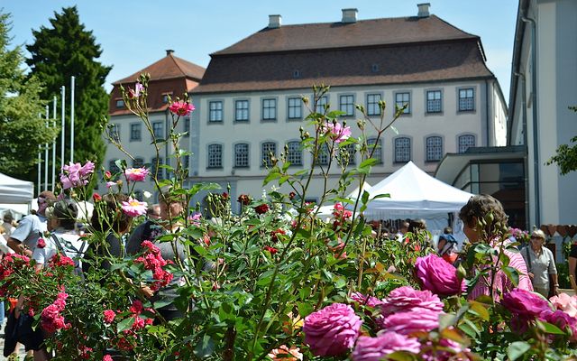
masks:
<path id="1" fill-rule="evenodd" d="M 51 143 L 58 130 L 39 117 L 44 114 L 41 83 L 24 73 L 22 49 L 8 49 L 10 31 L 10 14 L 0 10 L 0 171 L 34 180 L 38 145 Z"/>

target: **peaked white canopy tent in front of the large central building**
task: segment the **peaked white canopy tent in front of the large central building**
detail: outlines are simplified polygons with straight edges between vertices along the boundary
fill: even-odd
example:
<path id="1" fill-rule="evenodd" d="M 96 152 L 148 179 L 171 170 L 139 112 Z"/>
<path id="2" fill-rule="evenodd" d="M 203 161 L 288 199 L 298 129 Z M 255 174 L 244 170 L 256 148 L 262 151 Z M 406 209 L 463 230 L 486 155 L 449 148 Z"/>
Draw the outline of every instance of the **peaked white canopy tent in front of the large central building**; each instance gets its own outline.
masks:
<path id="1" fill-rule="evenodd" d="M 373 199 L 364 211 L 367 219 L 423 218 L 431 233 L 440 233 L 448 225 L 448 214 L 458 212 L 472 197 L 471 193 L 454 188 L 421 171 L 408 162 L 369 190 L 370 199 L 379 194 L 390 198 Z M 455 236 L 460 227 L 453 227 Z"/>

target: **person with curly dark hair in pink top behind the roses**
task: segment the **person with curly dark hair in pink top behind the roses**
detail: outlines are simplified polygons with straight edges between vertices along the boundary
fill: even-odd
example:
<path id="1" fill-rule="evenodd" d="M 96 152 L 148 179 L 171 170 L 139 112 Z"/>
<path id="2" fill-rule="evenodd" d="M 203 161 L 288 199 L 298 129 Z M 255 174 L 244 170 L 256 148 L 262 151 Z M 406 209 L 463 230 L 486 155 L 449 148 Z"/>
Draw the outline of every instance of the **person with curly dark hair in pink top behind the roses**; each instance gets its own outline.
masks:
<path id="1" fill-rule="evenodd" d="M 485 227 L 481 227 L 479 221 L 484 219 L 489 213 L 492 214 L 492 220 Z M 499 200 L 487 194 L 473 196 L 467 204 L 461 208 L 459 218 L 463 220 L 463 232 L 472 244 L 485 242 L 497 248 L 501 247 L 503 253 L 508 256 L 508 266 L 516 268 L 519 273 L 517 287 L 522 290 L 533 291 L 533 285 L 527 272 L 527 264 L 522 255 L 513 253 L 504 248 L 505 245 L 499 245 L 499 229 L 507 227 L 507 215 Z M 492 282 L 491 282 L 492 281 Z M 492 284 L 492 291 L 490 291 Z M 469 292 L 469 299 L 475 300 L 481 295 L 492 296 L 494 300 L 500 299 L 502 292 L 508 292 L 515 288 L 513 282 L 508 279 L 506 273 L 499 269 L 494 274 L 493 280 L 490 275 L 481 276 L 474 288 Z"/>

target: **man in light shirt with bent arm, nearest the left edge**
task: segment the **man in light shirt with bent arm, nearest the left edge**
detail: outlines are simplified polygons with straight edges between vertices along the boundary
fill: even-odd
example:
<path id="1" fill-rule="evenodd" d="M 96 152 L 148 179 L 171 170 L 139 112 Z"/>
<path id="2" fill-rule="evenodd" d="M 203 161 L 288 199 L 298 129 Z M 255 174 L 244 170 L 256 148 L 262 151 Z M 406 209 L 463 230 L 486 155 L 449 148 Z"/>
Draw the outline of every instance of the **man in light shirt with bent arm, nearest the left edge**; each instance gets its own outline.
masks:
<path id="1" fill-rule="evenodd" d="M 38 239 L 47 231 L 45 212 L 46 208 L 56 202 L 54 193 L 44 190 L 38 196 L 38 211 L 36 214 L 28 215 L 20 220 L 18 227 L 8 238 L 8 246 L 15 253 L 32 257 L 32 251 Z"/>

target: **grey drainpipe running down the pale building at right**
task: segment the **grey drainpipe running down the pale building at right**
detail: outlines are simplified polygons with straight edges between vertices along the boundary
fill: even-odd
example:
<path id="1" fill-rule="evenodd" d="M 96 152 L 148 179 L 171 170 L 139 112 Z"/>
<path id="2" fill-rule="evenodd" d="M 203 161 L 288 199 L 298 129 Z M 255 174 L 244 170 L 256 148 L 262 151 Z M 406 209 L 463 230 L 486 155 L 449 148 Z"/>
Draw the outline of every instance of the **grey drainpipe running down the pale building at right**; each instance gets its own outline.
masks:
<path id="1" fill-rule="evenodd" d="M 523 16 L 524 23 L 531 23 L 531 103 L 533 110 L 533 167 L 535 171 L 535 225 L 541 226 L 541 201 L 539 183 L 539 139 L 537 137 L 537 42 L 536 22 L 530 17 Z"/>

